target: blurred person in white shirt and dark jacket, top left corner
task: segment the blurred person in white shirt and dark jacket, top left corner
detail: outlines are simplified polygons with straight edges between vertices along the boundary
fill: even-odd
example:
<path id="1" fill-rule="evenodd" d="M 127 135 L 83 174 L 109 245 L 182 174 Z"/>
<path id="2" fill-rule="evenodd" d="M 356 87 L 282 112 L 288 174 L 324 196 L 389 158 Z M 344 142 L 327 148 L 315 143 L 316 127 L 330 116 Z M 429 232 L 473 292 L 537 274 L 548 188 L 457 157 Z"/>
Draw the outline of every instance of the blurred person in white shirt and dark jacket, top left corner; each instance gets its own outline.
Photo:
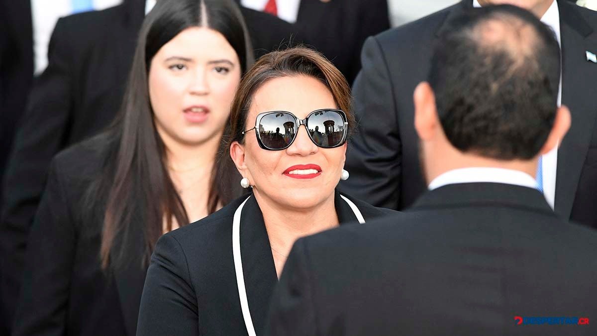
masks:
<path id="1" fill-rule="evenodd" d="M 48 43 L 56 21 L 69 14 L 103 10 L 121 1 L 0 0 L 0 178 L 33 74 L 40 74 L 47 66 Z"/>

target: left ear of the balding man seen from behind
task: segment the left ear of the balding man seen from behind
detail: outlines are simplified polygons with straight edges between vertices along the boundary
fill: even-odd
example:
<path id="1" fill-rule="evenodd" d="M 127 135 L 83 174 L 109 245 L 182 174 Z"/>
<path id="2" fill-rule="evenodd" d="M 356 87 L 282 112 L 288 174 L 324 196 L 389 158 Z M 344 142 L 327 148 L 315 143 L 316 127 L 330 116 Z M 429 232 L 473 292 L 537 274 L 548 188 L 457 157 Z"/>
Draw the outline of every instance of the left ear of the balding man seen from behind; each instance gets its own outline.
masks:
<path id="1" fill-rule="evenodd" d="M 439 126 L 438 109 L 435 105 L 435 93 L 431 85 L 421 82 L 413 94 L 414 99 L 414 128 L 421 141 L 430 140 L 435 136 Z"/>

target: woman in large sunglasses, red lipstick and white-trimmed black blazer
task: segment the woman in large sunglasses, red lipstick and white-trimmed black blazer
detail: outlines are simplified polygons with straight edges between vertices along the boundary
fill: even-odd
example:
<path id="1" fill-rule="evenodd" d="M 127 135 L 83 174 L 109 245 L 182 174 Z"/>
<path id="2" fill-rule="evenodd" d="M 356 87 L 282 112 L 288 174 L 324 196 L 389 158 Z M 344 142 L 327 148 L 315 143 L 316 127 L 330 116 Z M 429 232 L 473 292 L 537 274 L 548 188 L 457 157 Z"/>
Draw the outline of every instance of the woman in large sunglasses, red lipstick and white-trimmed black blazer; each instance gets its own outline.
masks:
<path id="1" fill-rule="evenodd" d="M 349 85 L 321 54 L 261 57 L 231 120 L 221 149 L 253 193 L 158 241 L 138 335 L 260 335 L 298 237 L 394 213 L 336 191 L 354 117 Z"/>

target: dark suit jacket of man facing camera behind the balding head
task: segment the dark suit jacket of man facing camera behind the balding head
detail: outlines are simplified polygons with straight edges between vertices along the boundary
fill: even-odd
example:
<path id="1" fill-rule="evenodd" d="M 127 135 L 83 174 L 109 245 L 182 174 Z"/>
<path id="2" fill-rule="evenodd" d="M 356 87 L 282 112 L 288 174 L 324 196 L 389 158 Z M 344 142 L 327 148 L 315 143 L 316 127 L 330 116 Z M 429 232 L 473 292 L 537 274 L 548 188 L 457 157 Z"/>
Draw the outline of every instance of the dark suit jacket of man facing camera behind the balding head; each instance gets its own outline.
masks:
<path id="1" fill-rule="evenodd" d="M 376 206 L 404 209 L 426 190 L 418 158 L 413 91 L 426 80 L 433 41 L 460 3 L 367 40 L 353 96 L 361 128 L 352 137 L 338 188 Z M 572 126 L 558 150 L 555 211 L 597 228 L 597 12 L 558 1 L 562 39 L 562 104 Z"/>

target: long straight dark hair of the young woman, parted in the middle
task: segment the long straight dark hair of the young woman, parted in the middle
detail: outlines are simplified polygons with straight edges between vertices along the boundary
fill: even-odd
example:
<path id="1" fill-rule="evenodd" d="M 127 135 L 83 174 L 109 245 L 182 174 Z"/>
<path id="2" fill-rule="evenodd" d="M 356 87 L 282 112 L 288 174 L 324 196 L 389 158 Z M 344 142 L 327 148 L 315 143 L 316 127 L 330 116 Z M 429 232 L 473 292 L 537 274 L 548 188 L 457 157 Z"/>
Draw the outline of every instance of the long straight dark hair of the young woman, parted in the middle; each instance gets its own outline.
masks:
<path id="1" fill-rule="evenodd" d="M 160 48 L 184 29 L 196 26 L 216 30 L 226 38 L 238 55 L 242 74 L 253 64 L 248 30 L 232 0 L 159 0 L 147 15 L 121 111 L 99 136 L 106 158 L 103 171 L 87 193 L 89 215 L 96 216 L 95 221 L 97 216 L 103 218 L 100 257 L 104 270 L 139 261 L 138 256 L 142 256 L 140 264 L 146 265 L 164 231 L 164 221 L 167 230 L 171 230 L 173 219 L 180 226 L 189 222 L 168 174 L 166 148 L 153 121 L 147 78 Z M 210 213 L 237 196 L 239 188 L 232 184 L 237 175 L 214 164 Z"/>

